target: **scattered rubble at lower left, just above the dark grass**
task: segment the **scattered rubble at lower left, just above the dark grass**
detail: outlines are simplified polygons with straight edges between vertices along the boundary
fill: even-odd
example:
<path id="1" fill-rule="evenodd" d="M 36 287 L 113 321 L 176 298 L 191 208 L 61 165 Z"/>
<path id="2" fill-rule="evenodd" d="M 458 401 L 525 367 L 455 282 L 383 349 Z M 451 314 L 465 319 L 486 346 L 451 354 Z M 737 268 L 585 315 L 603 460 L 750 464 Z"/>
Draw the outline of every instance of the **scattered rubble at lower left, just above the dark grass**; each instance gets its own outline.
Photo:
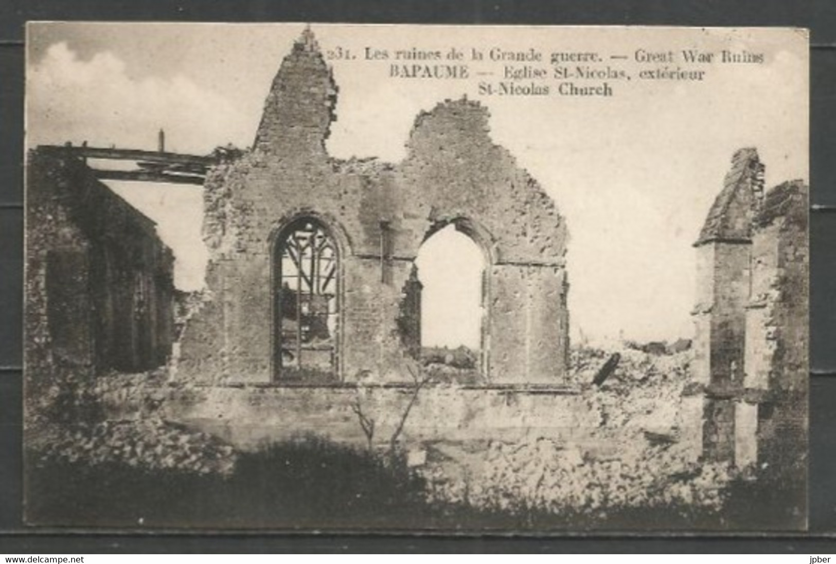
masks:
<path id="1" fill-rule="evenodd" d="M 237 452 L 210 434 L 161 419 L 61 426 L 37 450 L 35 463 L 124 464 L 145 470 L 231 475 Z"/>

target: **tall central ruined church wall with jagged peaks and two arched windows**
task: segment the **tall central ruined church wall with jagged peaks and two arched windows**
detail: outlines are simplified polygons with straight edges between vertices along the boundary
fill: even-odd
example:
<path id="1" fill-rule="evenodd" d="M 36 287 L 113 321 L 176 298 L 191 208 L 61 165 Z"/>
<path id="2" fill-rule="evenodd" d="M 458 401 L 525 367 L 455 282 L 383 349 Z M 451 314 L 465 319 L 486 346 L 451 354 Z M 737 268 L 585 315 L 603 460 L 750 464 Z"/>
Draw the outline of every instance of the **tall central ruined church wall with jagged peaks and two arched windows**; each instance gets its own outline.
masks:
<path id="1" fill-rule="evenodd" d="M 405 364 L 421 348 L 415 257 L 455 226 L 486 262 L 481 383 L 563 384 L 566 227 L 493 144 L 487 109 L 460 99 L 422 112 L 400 163 L 337 160 L 325 146 L 337 92 L 305 29 L 273 80 L 252 150 L 207 176 L 208 292 L 186 323 L 178 378 L 409 380 Z"/>

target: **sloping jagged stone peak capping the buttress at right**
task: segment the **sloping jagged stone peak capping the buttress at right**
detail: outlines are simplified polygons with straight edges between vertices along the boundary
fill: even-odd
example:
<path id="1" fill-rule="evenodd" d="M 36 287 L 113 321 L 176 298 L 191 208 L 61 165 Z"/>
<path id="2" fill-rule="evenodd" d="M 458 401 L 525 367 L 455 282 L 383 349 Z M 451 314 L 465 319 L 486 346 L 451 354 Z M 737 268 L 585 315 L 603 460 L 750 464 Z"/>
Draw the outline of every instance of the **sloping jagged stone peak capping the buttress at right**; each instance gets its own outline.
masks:
<path id="1" fill-rule="evenodd" d="M 745 242 L 752 236 L 752 222 L 763 202 L 764 165 L 757 149 L 735 151 L 723 188 L 708 211 L 695 246 L 711 241 Z"/>

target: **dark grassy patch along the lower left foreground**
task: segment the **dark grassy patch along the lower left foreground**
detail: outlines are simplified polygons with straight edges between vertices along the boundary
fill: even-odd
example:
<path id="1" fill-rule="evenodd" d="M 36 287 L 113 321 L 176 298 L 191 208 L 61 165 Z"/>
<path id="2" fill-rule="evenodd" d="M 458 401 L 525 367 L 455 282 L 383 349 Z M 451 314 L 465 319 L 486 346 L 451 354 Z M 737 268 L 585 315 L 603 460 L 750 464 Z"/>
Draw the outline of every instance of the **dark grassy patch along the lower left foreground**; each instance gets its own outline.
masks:
<path id="1" fill-rule="evenodd" d="M 27 477 L 28 521 L 44 525 L 382 527 L 424 506 L 402 461 L 311 439 L 242 454 L 227 478 L 68 462 Z"/>

